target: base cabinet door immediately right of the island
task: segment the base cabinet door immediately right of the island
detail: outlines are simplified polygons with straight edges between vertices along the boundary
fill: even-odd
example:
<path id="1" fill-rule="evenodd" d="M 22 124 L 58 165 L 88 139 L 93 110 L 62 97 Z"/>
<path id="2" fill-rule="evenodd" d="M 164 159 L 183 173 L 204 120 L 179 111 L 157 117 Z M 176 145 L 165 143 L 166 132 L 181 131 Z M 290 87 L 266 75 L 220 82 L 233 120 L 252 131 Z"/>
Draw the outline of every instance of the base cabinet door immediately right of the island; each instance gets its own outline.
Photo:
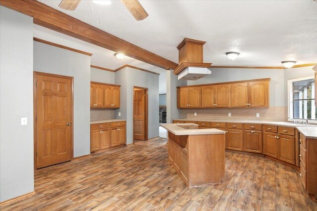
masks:
<path id="1" fill-rule="evenodd" d="M 226 133 L 226 149 L 243 150 L 243 130 L 228 129 Z"/>

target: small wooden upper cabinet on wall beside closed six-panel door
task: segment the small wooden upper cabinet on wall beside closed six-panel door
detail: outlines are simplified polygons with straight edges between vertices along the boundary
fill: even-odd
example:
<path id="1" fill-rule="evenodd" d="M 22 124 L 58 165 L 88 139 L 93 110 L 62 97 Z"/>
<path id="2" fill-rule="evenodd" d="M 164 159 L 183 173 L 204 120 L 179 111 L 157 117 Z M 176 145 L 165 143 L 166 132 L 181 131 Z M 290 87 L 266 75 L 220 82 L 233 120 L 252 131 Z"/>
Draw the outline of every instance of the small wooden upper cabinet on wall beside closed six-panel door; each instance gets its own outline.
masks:
<path id="1" fill-rule="evenodd" d="M 91 108 L 120 108 L 120 86 L 91 82 Z"/>

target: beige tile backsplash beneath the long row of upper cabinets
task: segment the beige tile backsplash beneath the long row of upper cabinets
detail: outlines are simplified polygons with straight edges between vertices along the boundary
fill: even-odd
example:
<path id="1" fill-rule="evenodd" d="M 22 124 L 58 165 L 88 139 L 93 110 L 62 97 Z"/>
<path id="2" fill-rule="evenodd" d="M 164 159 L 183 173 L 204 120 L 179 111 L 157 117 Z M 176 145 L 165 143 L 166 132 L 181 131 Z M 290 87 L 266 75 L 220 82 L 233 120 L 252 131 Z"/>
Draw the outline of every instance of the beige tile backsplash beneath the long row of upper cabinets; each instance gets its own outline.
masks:
<path id="1" fill-rule="evenodd" d="M 197 116 L 194 116 L 194 112 L 197 113 Z M 228 113 L 231 113 L 231 117 L 228 117 Z M 260 113 L 260 117 L 256 117 L 257 113 Z M 180 118 L 285 122 L 287 121 L 287 106 L 269 108 L 181 109 Z"/>

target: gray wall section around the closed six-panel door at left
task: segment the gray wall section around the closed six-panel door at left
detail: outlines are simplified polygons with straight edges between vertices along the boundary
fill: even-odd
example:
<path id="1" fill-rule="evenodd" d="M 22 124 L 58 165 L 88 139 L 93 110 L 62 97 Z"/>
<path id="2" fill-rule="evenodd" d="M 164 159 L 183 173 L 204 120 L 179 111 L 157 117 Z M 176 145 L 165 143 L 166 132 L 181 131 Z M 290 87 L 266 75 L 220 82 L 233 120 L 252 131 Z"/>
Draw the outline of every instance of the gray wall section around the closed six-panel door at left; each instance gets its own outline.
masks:
<path id="1" fill-rule="evenodd" d="M 74 77 L 74 157 L 90 154 L 90 56 L 35 41 L 34 71 Z"/>

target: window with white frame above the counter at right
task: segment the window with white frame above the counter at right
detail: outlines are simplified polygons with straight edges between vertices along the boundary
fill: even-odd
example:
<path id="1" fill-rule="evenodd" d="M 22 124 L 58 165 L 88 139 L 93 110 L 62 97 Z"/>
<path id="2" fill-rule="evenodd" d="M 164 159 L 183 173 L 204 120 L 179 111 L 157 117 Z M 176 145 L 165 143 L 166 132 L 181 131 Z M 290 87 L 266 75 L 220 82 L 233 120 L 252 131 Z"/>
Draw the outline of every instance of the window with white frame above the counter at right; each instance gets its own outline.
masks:
<path id="1" fill-rule="evenodd" d="M 289 117 L 295 120 L 316 120 L 314 78 L 290 80 L 288 83 Z"/>

